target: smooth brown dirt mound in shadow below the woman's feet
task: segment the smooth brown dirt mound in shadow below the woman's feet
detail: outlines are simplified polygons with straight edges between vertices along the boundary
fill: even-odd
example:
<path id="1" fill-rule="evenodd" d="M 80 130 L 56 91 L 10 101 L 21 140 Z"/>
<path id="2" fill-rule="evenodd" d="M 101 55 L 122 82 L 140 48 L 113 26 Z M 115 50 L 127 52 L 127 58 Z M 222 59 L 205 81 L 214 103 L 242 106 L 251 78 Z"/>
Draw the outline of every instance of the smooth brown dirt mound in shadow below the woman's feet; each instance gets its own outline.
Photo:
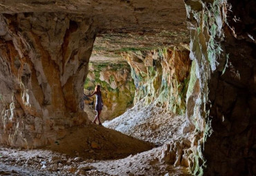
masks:
<path id="1" fill-rule="evenodd" d="M 69 133 L 48 149 L 86 159 L 117 159 L 153 148 L 148 142 L 98 125 L 73 128 Z"/>

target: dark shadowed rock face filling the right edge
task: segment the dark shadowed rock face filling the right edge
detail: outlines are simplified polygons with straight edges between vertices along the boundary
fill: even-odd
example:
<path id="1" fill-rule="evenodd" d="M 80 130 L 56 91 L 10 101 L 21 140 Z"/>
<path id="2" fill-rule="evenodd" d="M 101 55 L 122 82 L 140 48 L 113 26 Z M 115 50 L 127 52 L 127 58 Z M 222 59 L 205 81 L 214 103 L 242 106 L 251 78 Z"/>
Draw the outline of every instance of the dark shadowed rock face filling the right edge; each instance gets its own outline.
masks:
<path id="1" fill-rule="evenodd" d="M 205 143 L 205 173 L 256 175 L 256 3 L 228 3 L 230 28 L 223 26 L 222 47 L 227 57 L 221 57 L 226 67 L 212 72 L 209 82 L 214 133 Z M 215 155 L 212 150 L 217 150 Z"/>

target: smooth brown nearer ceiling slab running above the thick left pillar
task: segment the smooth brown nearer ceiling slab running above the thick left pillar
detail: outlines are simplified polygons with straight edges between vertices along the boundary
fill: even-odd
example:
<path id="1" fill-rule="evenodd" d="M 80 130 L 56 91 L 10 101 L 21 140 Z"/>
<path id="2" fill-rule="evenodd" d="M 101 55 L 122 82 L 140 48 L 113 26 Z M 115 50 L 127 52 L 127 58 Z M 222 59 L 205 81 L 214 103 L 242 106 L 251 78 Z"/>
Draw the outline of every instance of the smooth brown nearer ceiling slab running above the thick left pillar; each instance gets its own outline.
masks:
<path id="1" fill-rule="evenodd" d="M 93 19 L 98 30 L 147 31 L 185 29 L 182 0 L 8 0 L 1 1 L 1 13 L 65 12 Z"/>

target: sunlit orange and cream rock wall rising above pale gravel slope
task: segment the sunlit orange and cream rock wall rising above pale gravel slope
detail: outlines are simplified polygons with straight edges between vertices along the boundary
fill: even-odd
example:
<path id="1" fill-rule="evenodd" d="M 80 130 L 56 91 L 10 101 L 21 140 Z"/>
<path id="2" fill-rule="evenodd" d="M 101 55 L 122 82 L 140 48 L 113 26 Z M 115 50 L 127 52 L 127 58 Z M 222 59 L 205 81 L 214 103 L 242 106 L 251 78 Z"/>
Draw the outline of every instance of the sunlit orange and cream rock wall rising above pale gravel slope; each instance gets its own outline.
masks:
<path id="1" fill-rule="evenodd" d="M 191 61 L 182 46 L 125 54 L 136 86 L 134 103 L 156 103 L 176 115 L 185 113 Z M 141 102 L 141 101 L 140 101 Z"/>

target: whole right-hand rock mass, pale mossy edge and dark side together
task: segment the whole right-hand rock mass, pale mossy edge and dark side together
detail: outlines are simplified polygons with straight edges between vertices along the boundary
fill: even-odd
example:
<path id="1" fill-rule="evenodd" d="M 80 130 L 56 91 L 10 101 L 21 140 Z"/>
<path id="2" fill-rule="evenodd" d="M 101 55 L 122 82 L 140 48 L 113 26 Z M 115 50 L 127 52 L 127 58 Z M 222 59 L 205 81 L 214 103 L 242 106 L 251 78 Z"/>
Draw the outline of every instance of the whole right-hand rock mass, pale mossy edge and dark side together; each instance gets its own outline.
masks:
<path id="1" fill-rule="evenodd" d="M 193 60 L 187 116 L 198 136 L 191 171 L 255 175 L 255 2 L 185 3 Z"/>

